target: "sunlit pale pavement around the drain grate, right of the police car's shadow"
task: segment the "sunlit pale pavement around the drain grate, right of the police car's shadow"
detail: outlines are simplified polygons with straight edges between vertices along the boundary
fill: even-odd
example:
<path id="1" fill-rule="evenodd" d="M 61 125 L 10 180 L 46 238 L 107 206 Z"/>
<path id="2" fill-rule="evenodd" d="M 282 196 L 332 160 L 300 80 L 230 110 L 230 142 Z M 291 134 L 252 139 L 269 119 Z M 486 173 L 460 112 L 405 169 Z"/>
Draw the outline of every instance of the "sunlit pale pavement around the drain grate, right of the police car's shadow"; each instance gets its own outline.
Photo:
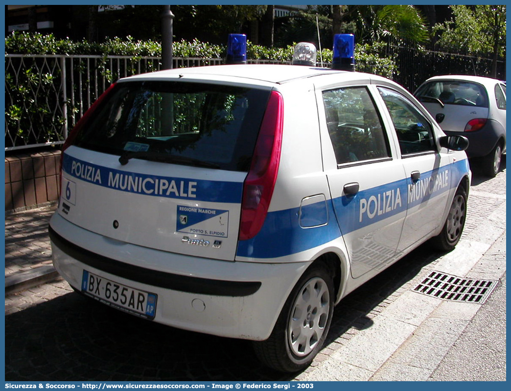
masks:
<path id="1" fill-rule="evenodd" d="M 329 346 L 335 352 L 297 380 L 506 380 L 505 204 L 485 227 L 482 235 L 473 232 L 439 258 L 434 270 L 499 281 L 496 288 L 503 285 L 503 293 L 498 298 L 490 295 L 480 304 L 415 292 L 413 287 L 430 272 L 426 268 L 371 319 L 370 328 L 347 331 L 352 335 L 348 343 Z M 458 342 L 463 340 L 467 342 Z"/>

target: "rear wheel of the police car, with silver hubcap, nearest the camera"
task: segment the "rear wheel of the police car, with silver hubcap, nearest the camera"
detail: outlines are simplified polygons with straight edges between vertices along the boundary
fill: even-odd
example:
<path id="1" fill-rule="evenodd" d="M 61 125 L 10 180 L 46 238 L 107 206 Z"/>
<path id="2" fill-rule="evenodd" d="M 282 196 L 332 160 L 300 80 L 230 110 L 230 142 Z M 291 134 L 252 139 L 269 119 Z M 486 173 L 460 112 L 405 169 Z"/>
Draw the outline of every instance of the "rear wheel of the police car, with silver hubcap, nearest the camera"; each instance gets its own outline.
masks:
<path id="1" fill-rule="evenodd" d="M 255 355 L 280 372 L 304 370 L 327 337 L 334 301 L 332 277 L 327 266 L 317 262 L 298 280 L 270 337 L 253 342 Z"/>

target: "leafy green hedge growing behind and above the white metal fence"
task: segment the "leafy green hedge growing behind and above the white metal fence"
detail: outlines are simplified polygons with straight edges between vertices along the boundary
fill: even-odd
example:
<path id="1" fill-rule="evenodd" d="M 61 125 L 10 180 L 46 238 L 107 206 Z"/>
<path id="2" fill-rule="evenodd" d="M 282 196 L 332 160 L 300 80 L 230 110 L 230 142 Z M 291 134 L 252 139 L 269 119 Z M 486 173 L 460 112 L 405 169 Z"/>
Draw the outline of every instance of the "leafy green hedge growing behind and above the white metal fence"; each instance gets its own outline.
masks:
<path id="1" fill-rule="evenodd" d="M 293 49 L 294 45 L 286 48 L 267 48 L 247 42 L 247 58 L 286 62 L 291 61 Z M 385 44 L 356 46 L 357 71 L 390 78 L 396 70 L 396 61 L 384 55 L 385 49 Z M 106 63 L 106 56 L 130 56 L 134 60 L 141 57 L 158 58 L 161 56 L 161 46 L 160 42 L 154 40 L 135 41 L 132 37 L 125 39 L 116 37 L 96 44 L 57 39 L 52 34 L 14 32 L 5 38 L 5 52 L 26 55 L 99 55 L 104 57 L 103 62 L 99 61 L 99 73 L 110 82 L 113 78 L 113 75 L 110 75 L 111 71 L 101 65 Z M 173 55 L 184 58 L 225 58 L 226 45 L 212 45 L 196 39 L 191 42 L 181 40 L 173 42 Z M 330 63 L 332 50 L 323 49 L 321 56 L 324 63 Z M 62 128 L 64 118 L 56 110 L 60 104 L 56 91 L 59 84 L 55 82 L 58 72 L 55 73 L 52 66 L 56 60 L 39 58 L 34 59 L 33 63 L 25 63 L 23 59 L 12 61 L 21 65 L 21 68 L 18 71 L 16 67 L 6 65 L 6 146 L 60 141 L 62 136 L 59 129 Z M 317 61 L 318 63 L 320 61 L 319 54 Z M 43 64 L 46 66 L 43 67 Z M 147 71 L 146 69 L 144 72 Z M 82 69 L 77 61 L 74 72 L 84 75 L 87 70 Z M 83 88 L 85 87 L 84 85 Z M 80 102 L 75 101 L 74 106 L 71 102 L 67 103 L 68 119 L 69 116 L 75 116 L 78 104 Z"/>

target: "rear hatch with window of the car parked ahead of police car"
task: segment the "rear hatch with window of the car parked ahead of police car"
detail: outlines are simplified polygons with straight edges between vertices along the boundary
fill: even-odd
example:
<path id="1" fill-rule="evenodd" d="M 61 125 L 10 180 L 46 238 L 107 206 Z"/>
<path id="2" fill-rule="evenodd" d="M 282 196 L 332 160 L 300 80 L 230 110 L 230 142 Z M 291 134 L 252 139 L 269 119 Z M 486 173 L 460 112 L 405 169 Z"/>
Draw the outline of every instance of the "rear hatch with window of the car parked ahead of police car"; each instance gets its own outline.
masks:
<path id="1" fill-rule="evenodd" d="M 488 118 L 488 95 L 478 83 L 463 80 L 432 80 L 414 94 L 447 132 L 476 130 Z"/>

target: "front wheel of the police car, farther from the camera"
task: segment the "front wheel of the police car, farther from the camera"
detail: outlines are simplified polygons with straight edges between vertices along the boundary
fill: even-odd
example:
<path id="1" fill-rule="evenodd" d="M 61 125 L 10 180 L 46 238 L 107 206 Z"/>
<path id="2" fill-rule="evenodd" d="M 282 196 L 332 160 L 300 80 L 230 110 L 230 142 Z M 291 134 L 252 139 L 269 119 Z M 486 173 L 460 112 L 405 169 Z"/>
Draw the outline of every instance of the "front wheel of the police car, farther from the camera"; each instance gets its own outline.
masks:
<path id="1" fill-rule="evenodd" d="M 433 246 L 442 251 L 453 250 L 463 233 L 466 218 L 467 192 L 460 186 L 454 194 L 442 232 L 431 239 Z"/>

